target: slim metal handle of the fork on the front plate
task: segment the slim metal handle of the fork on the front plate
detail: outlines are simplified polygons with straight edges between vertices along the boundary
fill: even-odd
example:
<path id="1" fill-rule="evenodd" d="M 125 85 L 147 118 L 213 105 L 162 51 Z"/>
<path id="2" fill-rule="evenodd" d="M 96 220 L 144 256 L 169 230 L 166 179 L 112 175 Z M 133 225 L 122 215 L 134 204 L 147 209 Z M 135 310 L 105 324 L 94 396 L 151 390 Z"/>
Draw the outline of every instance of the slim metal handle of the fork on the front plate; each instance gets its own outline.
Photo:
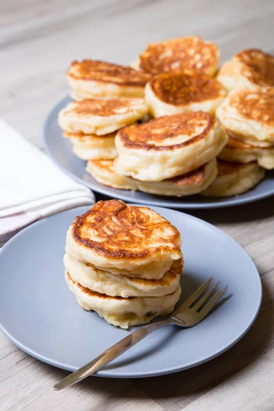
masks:
<path id="1" fill-rule="evenodd" d="M 95 371 L 101 369 L 102 366 L 108 364 L 110 361 L 114 360 L 114 358 L 121 356 L 121 354 L 127 351 L 127 349 L 133 347 L 136 343 L 138 343 L 138 341 L 142 340 L 142 338 L 145 338 L 151 332 L 155 331 L 155 329 L 164 327 L 164 325 L 168 324 L 173 324 L 173 321 L 171 321 L 171 319 L 166 319 L 163 321 L 158 321 L 157 323 L 150 323 L 139 327 L 136 331 L 132 332 L 132 334 L 129 334 L 129 336 L 119 341 L 119 343 L 116 343 L 112 345 L 112 347 L 105 350 L 97 358 L 62 379 L 60 382 L 55 384 L 53 388 L 55 390 L 62 390 L 62 388 L 66 388 L 76 382 L 82 381 L 82 379 L 95 373 Z"/>

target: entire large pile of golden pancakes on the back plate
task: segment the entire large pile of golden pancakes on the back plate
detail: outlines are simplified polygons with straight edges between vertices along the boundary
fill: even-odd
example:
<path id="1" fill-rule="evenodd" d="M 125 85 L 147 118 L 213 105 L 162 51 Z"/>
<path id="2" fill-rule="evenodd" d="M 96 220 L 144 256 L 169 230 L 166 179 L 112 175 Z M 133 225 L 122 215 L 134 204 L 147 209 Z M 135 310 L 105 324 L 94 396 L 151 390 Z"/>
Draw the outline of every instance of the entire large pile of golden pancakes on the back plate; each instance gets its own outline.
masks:
<path id="1" fill-rule="evenodd" d="M 67 72 L 64 137 L 106 186 L 182 197 L 237 195 L 274 169 L 274 56 L 225 62 L 198 36 L 153 43 L 132 67 L 96 60 Z"/>

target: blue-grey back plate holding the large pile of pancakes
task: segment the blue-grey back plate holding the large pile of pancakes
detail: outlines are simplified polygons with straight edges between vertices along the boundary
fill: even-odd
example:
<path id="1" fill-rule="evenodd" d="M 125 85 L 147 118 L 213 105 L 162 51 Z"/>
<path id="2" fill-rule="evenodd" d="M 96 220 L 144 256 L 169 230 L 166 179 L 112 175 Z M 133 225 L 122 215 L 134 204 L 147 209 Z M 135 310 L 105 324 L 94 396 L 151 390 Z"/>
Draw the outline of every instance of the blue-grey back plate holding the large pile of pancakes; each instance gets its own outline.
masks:
<path id="1" fill-rule="evenodd" d="M 71 149 L 71 142 L 66 138 L 62 138 L 62 130 L 58 125 L 58 112 L 70 101 L 70 97 L 62 99 L 60 103 L 55 105 L 47 117 L 44 128 L 45 148 L 49 157 L 64 173 L 73 177 L 77 182 L 92 188 L 92 190 L 131 203 L 149 204 L 151 206 L 168 208 L 219 208 L 236 206 L 238 204 L 263 199 L 274 194 L 274 173 L 268 173 L 266 179 L 256 186 L 256 188 L 253 188 L 253 190 L 239 196 L 223 199 L 206 199 L 199 195 L 182 198 L 162 197 L 140 191 L 116 190 L 115 188 L 103 186 L 86 173 L 86 162 L 77 158 Z"/>

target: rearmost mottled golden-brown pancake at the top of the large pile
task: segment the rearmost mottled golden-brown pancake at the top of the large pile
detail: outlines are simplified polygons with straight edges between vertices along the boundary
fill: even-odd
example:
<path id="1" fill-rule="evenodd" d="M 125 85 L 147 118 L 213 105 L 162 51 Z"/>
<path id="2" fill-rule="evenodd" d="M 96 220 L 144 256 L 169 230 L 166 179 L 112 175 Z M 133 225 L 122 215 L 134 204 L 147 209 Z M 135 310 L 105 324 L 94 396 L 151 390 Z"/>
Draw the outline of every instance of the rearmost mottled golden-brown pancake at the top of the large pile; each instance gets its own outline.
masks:
<path id="1" fill-rule="evenodd" d="M 151 75 L 184 69 L 214 75 L 219 57 L 219 48 L 213 42 L 188 36 L 148 45 L 132 66 Z"/>

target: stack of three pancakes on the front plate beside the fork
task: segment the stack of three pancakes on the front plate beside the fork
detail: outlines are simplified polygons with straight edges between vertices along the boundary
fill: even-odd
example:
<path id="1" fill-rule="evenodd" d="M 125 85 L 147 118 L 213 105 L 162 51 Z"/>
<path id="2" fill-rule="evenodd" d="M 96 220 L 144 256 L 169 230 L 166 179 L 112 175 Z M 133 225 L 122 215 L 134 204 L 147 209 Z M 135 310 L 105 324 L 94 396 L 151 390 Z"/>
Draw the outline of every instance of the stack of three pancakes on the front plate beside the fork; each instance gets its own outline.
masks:
<path id="1" fill-rule="evenodd" d="M 147 207 L 99 201 L 66 236 L 65 278 L 77 302 L 127 328 L 169 314 L 179 300 L 181 236 Z"/>

